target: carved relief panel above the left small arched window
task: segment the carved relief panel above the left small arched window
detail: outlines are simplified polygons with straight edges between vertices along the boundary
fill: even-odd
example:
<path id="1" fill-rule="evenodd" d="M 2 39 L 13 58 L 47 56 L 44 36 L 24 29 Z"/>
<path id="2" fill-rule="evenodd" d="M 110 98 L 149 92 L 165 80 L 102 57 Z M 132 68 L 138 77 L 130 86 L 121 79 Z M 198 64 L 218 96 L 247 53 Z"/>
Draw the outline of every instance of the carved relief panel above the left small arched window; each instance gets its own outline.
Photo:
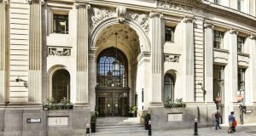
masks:
<path id="1" fill-rule="evenodd" d="M 48 47 L 48 56 L 71 56 L 71 48 Z"/>

